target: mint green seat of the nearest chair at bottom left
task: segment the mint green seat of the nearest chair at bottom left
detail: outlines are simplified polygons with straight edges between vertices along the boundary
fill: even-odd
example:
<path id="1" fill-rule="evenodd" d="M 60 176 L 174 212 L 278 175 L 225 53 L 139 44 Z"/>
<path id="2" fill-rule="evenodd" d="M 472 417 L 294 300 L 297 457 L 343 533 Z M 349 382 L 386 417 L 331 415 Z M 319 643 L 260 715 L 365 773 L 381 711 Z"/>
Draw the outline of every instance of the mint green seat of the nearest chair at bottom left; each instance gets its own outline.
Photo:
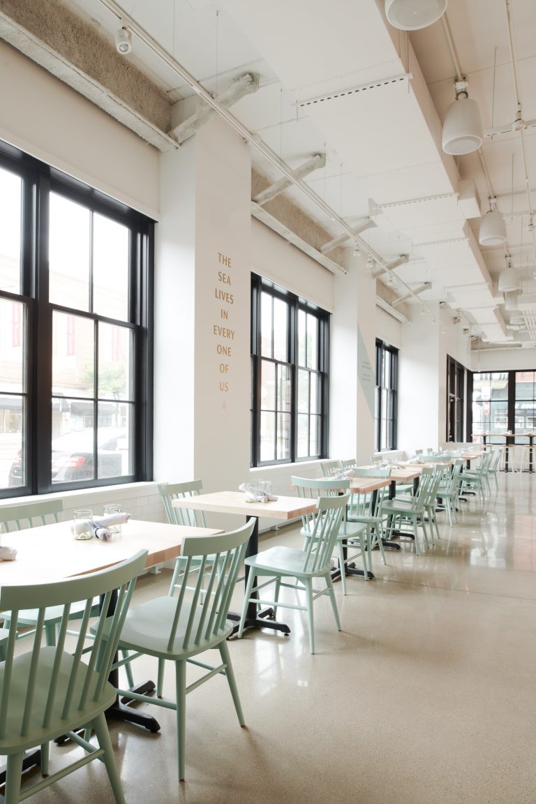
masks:
<path id="1" fill-rule="evenodd" d="M 70 718 L 62 716 L 65 695 L 57 695 L 52 706 L 51 717 L 47 728 L 42 727 L 44 708 L 47 704 L 47 695 L 51 687 L 52 669 L 56 650 L 54 647 L 43 647 L 39 651 L 39 663 L 36 672 L 35 695 L 31 708 L 31 719 L 28 724 L 30 736 L 21 736 L 24 702 L 27 690 L 30 687 L 29 676 L 31 671 L 31 652 L 16 656 L 13 660 L 13 672 L 10 681 L 9 708 L 6 718 L 6 732 L 0 738 L 0 753 L 8 756 L 12 753 L 25 751 L 36 745 L 36 734 L 40 743 L 47 743 L 63 732 L 72 732 L 75 728 L 84 726 L 102 712 L 103 707 L 112 706 L 116 699 L 116 691 L 112 684 L 105 682 L 98 699 L 94 700 L 88 695 L 88 701 L 83 709 L 72 712 Z M 82 693 L 84 683 L 90 676 L 89 688 L 95 688 L 99 675 L 81 664 L 76 679 L 71 679 L 72 667 L 75 659 L 71 654 L 63 653 L 59 666 L 58 688 L 67 691 L 69 682 L 74 680 L 74 698 L 78 699 Z M 0 689 L 4 686 L 4 665 L 0 665 Z"/>

